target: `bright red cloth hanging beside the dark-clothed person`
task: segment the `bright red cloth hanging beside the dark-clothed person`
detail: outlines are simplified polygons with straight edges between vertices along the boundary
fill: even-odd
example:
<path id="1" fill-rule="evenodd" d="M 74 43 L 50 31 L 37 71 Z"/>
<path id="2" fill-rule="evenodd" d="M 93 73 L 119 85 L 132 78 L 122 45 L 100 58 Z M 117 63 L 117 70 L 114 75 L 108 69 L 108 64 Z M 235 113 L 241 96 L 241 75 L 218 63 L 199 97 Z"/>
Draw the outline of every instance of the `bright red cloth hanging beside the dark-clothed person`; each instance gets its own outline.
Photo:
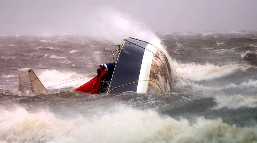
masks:
<path id="1" fill-rule="evenodd" d="M 76 88 L 75 90 L 80 92 L 85 92 L 85 93 L 91 93 L 91 94 L 99 94 L 101 92 L 102 83 L 94 83 L 94 82 L 102 82 L 103 81 L 102 77 L 108 74 L 109 73 L 107 70 L 103 70 L 103 72 L 99 77 L 97 76 L 94 77 L 92 80 Z"/>

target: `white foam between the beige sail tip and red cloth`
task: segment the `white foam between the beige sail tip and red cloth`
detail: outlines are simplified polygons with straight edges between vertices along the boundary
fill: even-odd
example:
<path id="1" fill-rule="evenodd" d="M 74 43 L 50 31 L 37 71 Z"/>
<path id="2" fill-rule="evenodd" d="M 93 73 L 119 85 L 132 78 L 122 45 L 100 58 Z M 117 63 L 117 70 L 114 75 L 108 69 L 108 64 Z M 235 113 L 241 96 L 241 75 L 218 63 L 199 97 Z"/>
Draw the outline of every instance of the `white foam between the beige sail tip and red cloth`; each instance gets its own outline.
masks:
<path id="1" fill-rule="evenodd" d="M 85 84 L 90 80 L 91 77 L 86 77 L 87 75 L 77 74 L 76 72 L 59 72 L 57 70 L 46 70 L 40 74 L 38 74 L 38 78 L 41 80 L 42 84 L 47 88 L 50 86 L 55 86 L 57 84 L 62 84 L 68 82 L 66 84 L 62 84 L 59 86 L 55 86 L 51 89 L 61 89 L 61 88 L 70 88 L 70 87 L 79 87 L 82 84 Z M 76 80 L 82 78 L 80 80 Z M 75 80 L 73 82 L 69 82 Z"/>

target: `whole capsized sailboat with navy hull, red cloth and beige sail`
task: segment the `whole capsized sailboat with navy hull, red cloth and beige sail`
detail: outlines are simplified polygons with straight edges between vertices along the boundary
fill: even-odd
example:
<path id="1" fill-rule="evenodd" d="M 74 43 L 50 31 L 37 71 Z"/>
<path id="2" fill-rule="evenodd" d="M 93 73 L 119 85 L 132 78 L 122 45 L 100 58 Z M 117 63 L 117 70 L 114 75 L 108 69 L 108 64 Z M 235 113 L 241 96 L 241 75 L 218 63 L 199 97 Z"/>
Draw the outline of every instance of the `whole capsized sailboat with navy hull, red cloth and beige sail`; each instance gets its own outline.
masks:
<path id="1" fill-rule="evenodd" d="M 117 45 L 117 49 L 110 53 L 113 53 L 112 62 L 101 64 L 97 69 L 97 76 L 76 88 L 75 91 L 90 94 L 103 92 L 118 94 L 128 91 L 168 93 L 171 91 L 170 65 L 167 57 L 156 46 L 146 41 L 128 38 Z M 48 94 L 32 69 L 18 69 L 18 71 L 20 92 L 31 91 Z"/>

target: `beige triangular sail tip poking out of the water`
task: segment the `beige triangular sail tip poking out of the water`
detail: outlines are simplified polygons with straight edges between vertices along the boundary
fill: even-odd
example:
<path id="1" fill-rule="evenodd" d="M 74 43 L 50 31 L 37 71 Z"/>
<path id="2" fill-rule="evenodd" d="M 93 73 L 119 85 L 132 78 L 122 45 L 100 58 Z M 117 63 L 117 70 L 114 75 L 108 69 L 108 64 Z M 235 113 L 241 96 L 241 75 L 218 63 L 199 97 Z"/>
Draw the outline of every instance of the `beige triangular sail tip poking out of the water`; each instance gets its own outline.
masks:
<path id="1" fill-rule="evenodd" d="M 33 72 L 32 69 L 18 69 L 19 71 L 19 88 L 20 92 L 31 91 L 35 93 L 48 94 L 47 90 Z"/>

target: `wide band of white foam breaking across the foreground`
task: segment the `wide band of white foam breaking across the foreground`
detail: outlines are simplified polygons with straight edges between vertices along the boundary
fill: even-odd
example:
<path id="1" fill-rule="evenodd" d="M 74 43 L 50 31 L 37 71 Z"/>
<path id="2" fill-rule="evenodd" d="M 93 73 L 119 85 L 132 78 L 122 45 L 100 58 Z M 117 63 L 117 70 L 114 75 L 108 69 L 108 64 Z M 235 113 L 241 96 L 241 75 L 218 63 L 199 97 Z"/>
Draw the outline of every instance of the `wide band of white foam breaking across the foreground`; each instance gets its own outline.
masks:
<path id="1" fill-rule="evenodd" d="M 102 116 L 69 119 L 45 110 L 1 108 L 0 128 L 0 140 L 6 142 L 252 142 L 257 138 L 257 127 L 231 126 L 220 118 L 200 117 L 189 124 L 186 119 L 127 107 Z"/>

